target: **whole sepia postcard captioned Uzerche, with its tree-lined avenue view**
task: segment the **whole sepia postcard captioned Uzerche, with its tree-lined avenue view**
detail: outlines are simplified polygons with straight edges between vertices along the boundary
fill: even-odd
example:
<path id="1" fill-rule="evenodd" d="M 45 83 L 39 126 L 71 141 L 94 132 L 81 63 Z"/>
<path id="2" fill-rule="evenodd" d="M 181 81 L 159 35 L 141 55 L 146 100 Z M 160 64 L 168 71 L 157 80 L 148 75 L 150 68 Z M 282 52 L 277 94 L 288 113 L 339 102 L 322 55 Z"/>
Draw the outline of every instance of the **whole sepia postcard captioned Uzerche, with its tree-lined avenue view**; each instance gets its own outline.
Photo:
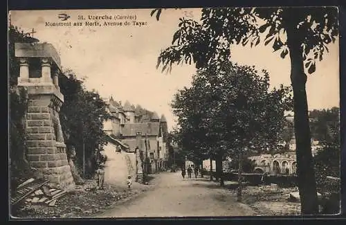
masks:
<path id="1" fill-rule="evenodd" d="M 338 13 L 10 10 L 10 219 L 339 215 Z"/>

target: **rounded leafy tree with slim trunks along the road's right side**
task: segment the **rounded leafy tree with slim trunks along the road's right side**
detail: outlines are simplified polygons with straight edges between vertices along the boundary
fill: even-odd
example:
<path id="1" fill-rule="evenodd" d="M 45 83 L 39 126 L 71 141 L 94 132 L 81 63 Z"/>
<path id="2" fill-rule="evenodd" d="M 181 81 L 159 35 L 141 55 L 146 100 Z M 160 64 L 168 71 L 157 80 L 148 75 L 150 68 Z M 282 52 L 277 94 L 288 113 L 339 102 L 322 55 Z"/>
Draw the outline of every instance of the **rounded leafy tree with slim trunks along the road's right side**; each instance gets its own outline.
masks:
<path id="1" fill-rule="evenodd" d="M 211 64 L 194 75 L 192 87 L 180 90 L 172 104 L 183 149 L 192 159 L 212 155 L 221 186 L 222 161 L 238 159 L 239 201 L 243 156 L 277 147 L 284 111 L 291 109 L 289 87 L 270 91 L 263 72 L 230 62 Z"/>

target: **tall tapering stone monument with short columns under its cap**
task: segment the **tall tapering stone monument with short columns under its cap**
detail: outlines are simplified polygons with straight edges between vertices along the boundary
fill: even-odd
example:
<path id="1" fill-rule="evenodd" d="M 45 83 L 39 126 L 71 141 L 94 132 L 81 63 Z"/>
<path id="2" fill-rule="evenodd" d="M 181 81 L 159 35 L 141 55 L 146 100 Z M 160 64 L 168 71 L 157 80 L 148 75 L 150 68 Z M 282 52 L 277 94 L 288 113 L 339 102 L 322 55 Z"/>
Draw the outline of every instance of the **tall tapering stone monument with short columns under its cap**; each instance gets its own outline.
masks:
<path id="1" fill-rule="evenodd" d="M 51 44 L 15 43 L 15 57 L 20 65 L 18 88 L 28 93 L 25 128 L 30 166 L 54 188 L 69 190 L 75 183 L 59 118 L 64 102 L 58 83 L 60 56 Z"/>

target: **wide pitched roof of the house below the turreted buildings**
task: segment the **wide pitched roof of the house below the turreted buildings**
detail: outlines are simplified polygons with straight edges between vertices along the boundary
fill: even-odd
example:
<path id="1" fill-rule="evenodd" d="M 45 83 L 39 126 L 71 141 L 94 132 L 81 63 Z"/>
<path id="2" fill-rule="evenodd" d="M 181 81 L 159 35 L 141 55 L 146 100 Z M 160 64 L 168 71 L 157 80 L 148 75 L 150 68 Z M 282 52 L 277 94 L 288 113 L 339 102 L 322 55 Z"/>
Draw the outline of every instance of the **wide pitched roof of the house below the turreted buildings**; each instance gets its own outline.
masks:
<path id="1" fill-rule="evenodd" d="M 160 128 L 160 123 L 150 122 L 150 123 L 125 123 L 122 127 L 122 136 L 136 136 L 136 132 L 141 132 L 143 136 L 147 134 L 148 136 L 158 135 Z"/>

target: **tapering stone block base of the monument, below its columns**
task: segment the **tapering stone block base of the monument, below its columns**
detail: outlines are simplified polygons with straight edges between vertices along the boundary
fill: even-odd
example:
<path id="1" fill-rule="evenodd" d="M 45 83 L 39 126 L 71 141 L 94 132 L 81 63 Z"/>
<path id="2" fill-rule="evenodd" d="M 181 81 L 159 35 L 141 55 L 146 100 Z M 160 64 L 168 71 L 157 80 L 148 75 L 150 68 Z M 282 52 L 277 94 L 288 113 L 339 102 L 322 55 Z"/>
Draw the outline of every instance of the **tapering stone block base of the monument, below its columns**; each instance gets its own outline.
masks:
<path id="1" fill-rule="evenodd" d="M 58 111 L 62 105 L 53 94 L 31 95 L 26 114 L 28 161 L 39 177 L 55 188 L 74 187 Z"/>

